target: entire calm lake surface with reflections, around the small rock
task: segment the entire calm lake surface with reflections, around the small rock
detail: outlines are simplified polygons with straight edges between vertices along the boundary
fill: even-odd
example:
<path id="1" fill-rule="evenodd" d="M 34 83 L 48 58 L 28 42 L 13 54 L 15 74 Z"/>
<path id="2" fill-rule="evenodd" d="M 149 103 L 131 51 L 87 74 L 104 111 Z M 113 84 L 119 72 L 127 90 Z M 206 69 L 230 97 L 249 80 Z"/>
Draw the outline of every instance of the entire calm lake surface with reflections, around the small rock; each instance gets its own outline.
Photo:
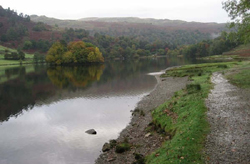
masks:
<path id="1" fill-rule="evenodd" d="M 89 164 L 118 137 L 167 58 L 88 67 L 0 67 L 0 164 Z M 95 129 L 97 135 L 86 134 Z"/>

